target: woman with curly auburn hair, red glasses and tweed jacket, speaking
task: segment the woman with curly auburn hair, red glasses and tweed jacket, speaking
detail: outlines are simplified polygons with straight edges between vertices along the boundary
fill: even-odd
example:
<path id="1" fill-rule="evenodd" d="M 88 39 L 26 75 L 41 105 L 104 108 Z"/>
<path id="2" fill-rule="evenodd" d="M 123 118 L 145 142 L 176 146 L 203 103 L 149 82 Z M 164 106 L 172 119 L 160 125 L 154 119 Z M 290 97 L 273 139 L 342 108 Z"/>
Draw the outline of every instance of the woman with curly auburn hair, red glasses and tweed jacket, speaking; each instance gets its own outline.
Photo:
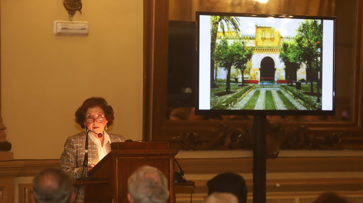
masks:
<path id="1" fill-rule="evenodd" d="M 121 135 L 106 132 L 107 127 L 112 125 L 113 119 L 112 107 L 101 97 L 88 98 L 77 109 L 75 120 L 85 131 L 67 138 L 59 160 L 61 169 L 72 179 L 80 178 L 82 175 L 86 135 L 91 140 L 88 146 L 87 171 L 111 151 L 111 142 L 125 142 L 125 138 Z M 83 202 L 83 199 L 84 187 L 81 187 L 76 201 Z"/>

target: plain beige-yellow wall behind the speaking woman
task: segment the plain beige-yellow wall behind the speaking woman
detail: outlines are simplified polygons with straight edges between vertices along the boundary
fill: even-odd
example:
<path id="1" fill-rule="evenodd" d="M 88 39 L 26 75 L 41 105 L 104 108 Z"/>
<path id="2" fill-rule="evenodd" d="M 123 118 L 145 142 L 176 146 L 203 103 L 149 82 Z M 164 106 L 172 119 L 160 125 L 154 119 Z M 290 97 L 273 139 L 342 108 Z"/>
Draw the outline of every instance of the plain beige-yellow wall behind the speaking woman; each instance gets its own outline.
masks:
<path id="1" fill-rule="evenodd" d="M 91 96 L 113 106 L 109 131 L 142 138 L 142 0 L 83 1 L 73 20 L 89 22 L 87 37 L 53 34 L 68 20 L 61 0 L 0 3 L 1 114 L 15 159 L 58 159 Z"/>

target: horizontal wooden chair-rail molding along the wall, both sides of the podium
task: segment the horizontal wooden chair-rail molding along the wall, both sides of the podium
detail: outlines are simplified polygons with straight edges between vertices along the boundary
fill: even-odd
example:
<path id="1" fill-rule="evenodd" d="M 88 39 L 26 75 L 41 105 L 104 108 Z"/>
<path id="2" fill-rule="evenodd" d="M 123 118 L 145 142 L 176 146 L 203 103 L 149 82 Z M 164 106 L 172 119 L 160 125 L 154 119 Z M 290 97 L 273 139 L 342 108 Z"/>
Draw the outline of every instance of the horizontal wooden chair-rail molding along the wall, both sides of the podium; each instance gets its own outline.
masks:
<path id="1" fill-rule="evenodd" d="M 252 158 L 181 158 L 185 174 L 252 173 Z M 359 172 L 363 157 L 284 157 L 268 159 L 268 173 L 284 172 Z M 0 177 L 34 176 L 43 169 L 59 167 L 58 159 L 0 162 Z M 179 170 L 179 169 L 176 169 Z"/>

